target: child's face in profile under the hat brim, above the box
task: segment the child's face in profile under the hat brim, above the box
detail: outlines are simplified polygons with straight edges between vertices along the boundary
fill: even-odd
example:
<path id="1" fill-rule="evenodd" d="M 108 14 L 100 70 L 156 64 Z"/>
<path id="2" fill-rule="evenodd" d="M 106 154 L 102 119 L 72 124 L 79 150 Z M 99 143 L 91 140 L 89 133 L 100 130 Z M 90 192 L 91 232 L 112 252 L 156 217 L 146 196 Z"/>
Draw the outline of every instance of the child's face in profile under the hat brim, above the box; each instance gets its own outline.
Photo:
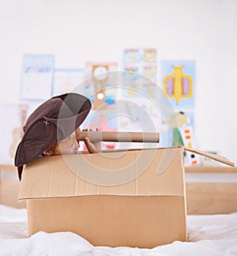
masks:
<path id="1" fill-rule="evenodd" d="M 76 132 L 74 132 L 63 141 L 58 142 L 58 145 L 55 146 L 54 155 L 76 154 L 79 147 L 80 144 L 76 140 Z"/>

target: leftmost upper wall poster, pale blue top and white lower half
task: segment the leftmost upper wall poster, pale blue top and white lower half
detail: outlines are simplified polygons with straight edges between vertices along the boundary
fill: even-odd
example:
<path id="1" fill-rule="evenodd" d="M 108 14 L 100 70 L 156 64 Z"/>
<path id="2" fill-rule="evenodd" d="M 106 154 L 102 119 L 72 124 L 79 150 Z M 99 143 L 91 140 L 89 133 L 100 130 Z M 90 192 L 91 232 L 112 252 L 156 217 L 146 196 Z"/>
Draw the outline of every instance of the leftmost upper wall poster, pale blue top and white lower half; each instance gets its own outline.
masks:
<path id="1" fill-rule="evenodd" d="M 21 100 L 47 100 L 52 94 L 54 55 L 24 55 Z"/>

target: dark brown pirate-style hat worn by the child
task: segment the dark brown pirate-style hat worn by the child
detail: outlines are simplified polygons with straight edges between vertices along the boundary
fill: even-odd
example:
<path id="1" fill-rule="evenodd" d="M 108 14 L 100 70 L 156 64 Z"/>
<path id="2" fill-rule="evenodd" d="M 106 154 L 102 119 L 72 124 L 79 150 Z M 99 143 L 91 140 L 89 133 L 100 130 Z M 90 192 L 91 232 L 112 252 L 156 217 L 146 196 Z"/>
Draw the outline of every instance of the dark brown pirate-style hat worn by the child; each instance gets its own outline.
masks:
<path id="1" fill-rule="evenodd" d="M 23 127 L 24 136 L 17 147 L 15 166 L 27 164 L 72 134 L 85 120 L 91 107 L 88 98 L 72 92 L 52 97 L 37 107 Z"/>

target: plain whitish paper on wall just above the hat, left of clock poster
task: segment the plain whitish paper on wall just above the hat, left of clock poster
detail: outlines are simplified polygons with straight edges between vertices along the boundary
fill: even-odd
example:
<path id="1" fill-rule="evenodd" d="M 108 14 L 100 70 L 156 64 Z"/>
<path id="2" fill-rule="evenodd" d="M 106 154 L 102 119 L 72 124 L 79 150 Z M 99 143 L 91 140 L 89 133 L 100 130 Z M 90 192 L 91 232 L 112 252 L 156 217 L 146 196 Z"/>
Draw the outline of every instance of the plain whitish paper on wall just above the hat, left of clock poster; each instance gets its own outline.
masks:
<path id="1" fill-rule="evenodd" d="M 53 95 L 57 96 L 80 86 L 85 80 L 83 69 L 55 69 Z"/>

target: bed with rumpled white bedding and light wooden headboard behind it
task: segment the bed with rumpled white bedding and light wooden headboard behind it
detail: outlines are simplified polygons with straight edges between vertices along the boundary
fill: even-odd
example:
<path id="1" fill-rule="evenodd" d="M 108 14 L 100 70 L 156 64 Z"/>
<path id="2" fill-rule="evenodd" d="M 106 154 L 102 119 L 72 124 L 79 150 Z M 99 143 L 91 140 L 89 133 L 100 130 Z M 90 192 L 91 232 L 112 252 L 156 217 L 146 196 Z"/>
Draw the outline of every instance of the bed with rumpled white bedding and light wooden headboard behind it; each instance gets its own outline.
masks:
<path id="1" fill-rule="evenodd" d="M 0 167 L 0 255 L 237 254 L 236 168 L 186 168 L 189 242 L 175 241 L 152 249 L 140 249 L 93 247 L 72 232 L 37 232 L 28 237 L 24 202 L 17 202 L 16 170 L 10 166 Z M 204 172 L 206 175 L 200 175 Z M 220 177 L 216 179 L 218 175 Z"/>

